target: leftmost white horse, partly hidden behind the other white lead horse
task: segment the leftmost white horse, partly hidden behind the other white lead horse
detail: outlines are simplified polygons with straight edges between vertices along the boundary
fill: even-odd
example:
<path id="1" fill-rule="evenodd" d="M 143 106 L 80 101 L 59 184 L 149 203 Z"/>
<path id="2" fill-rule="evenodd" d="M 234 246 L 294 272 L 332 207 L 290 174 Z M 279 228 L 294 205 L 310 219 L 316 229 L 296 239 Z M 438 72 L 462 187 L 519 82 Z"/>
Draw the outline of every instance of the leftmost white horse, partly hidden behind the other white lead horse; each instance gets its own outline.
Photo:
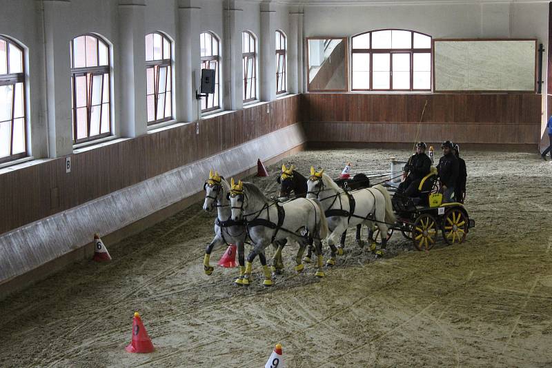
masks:
<path id="1" fill-rule="evenodd" d="M 247 230 L 244 221 L 233 221 L 230 219 L 230 201 L 228 201 L 228 193 L 230 193 L 230 184 L 224 177 L 219 176 L 218 172 L 213 174 L 209 172 L 209 180 L 205 182 L 205 202 L 203 209 L 206 212 L 212 212 L 213 208 L 217 207 L 218 216 L 215 220 L 215 238 L 205 249 L 204 256 L 204 272 L 207 275 L 213 274 L 214 267 L 209 264 L 210 254 L 215 247 L 224 244 L 235 244 L 237 247 L 237 256 L 239 263 L 239 276 L 234 280 L 237 285 L 244 284 L 245 272 L 245 252 L 244 244 L 247 238 Z M 264 252 L 259 254 L 259 259 L 262 265 L 266 265 Z"/>

